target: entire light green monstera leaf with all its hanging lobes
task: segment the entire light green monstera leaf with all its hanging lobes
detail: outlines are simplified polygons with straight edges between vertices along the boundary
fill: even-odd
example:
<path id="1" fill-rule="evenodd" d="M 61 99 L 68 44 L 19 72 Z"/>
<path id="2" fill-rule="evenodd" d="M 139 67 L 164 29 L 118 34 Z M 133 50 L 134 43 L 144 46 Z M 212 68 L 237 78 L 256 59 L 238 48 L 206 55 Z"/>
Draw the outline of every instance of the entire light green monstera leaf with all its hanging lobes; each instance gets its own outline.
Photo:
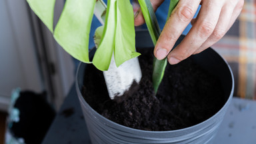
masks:
<path id="1" fill-rule="evenodd" d="M 108 0 L 104 30 L 93 62 L 89 61 L 88 45 L 96 0 L 67 0 L 54 30 L 55 0 L 27 2 L 59 45 L 79 61 L 93 63 L 98 69 L 106 71 L 113 53 L 117 66 L 140 55 L 135 51 L 133 7 L 130 1 Z"/>

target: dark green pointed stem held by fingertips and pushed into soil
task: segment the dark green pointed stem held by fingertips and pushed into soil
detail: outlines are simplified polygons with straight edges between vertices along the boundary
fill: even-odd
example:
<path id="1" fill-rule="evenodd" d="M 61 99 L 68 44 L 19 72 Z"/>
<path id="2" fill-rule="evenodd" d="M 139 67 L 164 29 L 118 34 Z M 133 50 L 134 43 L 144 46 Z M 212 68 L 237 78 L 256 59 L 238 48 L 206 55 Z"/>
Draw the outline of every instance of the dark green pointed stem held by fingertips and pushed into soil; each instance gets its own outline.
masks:
<path id="1" fill-rule="evenodd" d="M 178 2 L 179 0 L 171 0 L 167 19 L 171 15 L 171 12 L 173 11 Z M 157 18 L 155 16 L 155 12 L 153 11 L 151 2 L 149 0 L 139 0 L 139 5 L 141 6 L 141 11 L 143 13 L 147 28 L 149 29 L 149 34 L 151 36 L 153 44 L 156 45 L 157 39 L 159 38 L 161 31 L 159 28 L 159 24 L 157 22 Z M 163 79 L 166 65 L 167 58 L 158 60 L 154 57 L 152 82 L 155 95 L 157 94 L 157 90 Z"/>

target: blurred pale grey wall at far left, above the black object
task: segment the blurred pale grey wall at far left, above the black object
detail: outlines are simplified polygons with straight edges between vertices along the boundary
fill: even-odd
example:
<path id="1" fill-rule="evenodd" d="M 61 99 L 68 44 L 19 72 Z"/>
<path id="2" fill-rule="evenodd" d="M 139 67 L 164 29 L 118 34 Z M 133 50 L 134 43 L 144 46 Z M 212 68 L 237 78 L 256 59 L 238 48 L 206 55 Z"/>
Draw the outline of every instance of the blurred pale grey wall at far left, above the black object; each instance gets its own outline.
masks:
<path id="1" fill-rule="evenodd" d="M 0 1 L 0 110 L 12 89 L 41 91 L 42 84 L 25 1 Z"/>

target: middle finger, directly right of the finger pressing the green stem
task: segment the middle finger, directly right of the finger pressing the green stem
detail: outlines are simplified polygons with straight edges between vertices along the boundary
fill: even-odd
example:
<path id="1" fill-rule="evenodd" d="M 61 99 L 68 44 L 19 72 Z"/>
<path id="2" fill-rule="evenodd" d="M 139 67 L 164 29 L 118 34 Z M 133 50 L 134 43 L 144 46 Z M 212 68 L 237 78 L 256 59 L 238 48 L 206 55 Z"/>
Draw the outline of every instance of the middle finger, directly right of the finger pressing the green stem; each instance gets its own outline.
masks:
<path id="1" fill-rule="evenodd" d="M 170 64 L 187 59 L 210 37 L 217 25 L 222 6 L 221 1 L 203 1 L 197 21 L 183 41 L 169 53 Z"/>

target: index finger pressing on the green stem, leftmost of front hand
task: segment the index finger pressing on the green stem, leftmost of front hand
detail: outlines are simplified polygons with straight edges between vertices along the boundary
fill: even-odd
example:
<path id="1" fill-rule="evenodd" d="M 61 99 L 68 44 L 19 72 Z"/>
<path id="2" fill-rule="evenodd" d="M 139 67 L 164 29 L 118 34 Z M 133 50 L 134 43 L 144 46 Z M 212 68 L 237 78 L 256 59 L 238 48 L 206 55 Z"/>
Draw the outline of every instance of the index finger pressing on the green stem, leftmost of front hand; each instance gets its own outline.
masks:
<path id="1" fill-rule="evenodd" d="M 171 13 L 171 17 L 165 23 L 165 27 L 155 45 L 154 54 L 157 59 L 164 59 L 171 51 L 173 45 L 195 15 L 199 3 L 200 0 L 193 2 L 179 1 L 177 7 Z"/>

